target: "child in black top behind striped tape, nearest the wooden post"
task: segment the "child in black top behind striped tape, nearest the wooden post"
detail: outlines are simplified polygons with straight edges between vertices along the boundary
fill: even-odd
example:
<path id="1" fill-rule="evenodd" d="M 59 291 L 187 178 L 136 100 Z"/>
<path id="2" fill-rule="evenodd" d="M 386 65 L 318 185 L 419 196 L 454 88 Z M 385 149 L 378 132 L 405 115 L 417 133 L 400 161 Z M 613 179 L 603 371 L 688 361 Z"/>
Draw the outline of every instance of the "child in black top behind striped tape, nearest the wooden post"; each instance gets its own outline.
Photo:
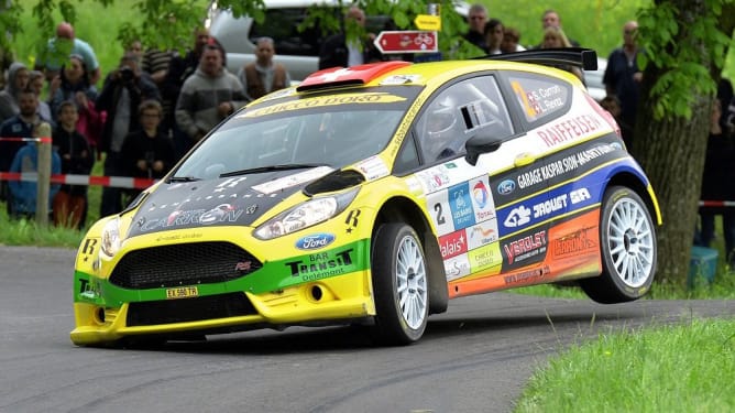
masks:
<path id="1" fill-rule="evenodd" d="M 53 134 L 54 146 L 62 162 L 63 174 L 89 175 L 95 156 L 87 139 L 77 131 L 77 104 L 65 100 L 58 105 L 58 126 Z M 83 229 L 87 220 L 87 186 L 62 185 L 53 198 L 53 221 L 57 227 Z"/>

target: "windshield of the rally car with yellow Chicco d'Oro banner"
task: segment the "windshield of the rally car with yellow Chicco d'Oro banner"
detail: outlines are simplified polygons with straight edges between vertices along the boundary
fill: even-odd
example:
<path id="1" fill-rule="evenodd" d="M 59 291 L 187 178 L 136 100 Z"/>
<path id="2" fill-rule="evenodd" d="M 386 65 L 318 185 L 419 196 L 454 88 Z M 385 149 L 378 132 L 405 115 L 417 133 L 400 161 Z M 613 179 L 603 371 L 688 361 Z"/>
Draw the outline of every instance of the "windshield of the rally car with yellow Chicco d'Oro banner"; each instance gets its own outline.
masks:
<path id="1" fill-rule="evenodd" d="M 359 102 L 334 104 L 355 97 Z M 340 169 L 381 152 L 410 100 L 384 91 L 273 99 L 223 123 L 173 176 L 211 180 L 274 170 Z"/>

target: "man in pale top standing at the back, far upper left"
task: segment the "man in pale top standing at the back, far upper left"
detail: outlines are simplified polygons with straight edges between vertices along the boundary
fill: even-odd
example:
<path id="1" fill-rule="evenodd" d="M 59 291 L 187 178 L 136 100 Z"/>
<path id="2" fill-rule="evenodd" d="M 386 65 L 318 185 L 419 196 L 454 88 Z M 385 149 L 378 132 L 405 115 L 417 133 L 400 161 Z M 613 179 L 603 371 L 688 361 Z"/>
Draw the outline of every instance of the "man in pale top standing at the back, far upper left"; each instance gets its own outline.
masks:
<path id="1" fill-rule="evenodd" d="M 100 79 L 101 72 L 95 50 L 89 43 L 77 39 L 74 26 L 63 22 L 56 26 L 56 37 L 48 41 L 45 53 L 36 63 L 36 69 L 44 70 L 46 80 L 52 81 L 64 62 L 69 55 L 79 55 L 89 70 L 89 83 L 95 85 Z"/>

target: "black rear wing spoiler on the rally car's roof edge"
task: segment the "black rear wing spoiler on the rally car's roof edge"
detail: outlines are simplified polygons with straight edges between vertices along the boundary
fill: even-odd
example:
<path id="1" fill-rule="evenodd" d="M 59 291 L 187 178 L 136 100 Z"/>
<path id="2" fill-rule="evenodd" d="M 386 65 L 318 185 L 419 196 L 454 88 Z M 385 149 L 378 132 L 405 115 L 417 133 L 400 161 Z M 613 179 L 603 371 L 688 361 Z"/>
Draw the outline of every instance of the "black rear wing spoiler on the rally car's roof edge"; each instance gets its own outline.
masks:
<path id="1" fill-rule="evenodd" d="M 597 52 L 584 47 L 534 48 L 530 51 L 476 57 L 491 61 L 534 63 L 537 65 L 572 65 L 584 70 L 597 69 Z"/>

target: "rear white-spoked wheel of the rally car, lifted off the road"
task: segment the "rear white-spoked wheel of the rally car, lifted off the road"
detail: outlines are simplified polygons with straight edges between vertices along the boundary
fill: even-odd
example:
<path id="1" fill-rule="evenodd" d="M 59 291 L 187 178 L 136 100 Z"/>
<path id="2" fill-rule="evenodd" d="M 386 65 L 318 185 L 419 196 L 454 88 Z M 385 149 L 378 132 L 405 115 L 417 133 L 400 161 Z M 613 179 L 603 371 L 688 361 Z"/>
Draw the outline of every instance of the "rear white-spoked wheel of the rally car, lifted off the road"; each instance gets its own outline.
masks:
<path id="1" fill-rule="evenodd" d="M 586 295 L 603 304 L 645 295 L 656 272 L 656 228 L 638 194 L 623 186 L 605 191 L 600 243 L 602 274 L 580 280 Z"/>

